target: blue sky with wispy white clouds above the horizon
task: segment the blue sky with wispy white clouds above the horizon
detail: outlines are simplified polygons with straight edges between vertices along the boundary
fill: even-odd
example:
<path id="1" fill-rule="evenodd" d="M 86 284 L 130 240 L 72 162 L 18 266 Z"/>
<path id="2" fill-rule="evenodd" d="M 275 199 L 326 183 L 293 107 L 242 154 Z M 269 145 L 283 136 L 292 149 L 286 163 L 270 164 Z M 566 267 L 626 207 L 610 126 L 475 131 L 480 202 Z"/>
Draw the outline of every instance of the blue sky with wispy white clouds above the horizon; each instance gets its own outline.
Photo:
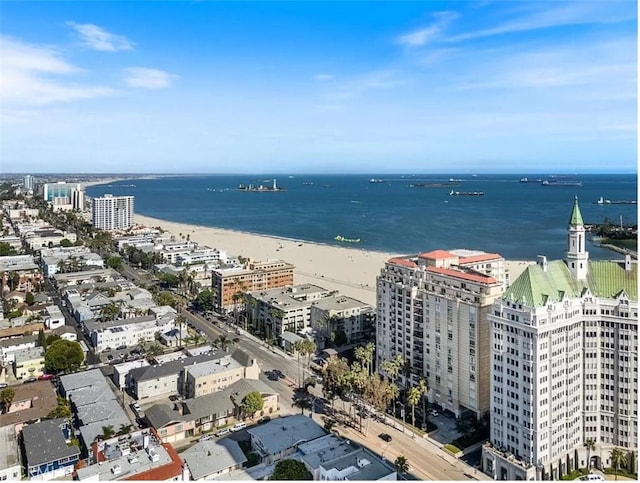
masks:
<path id="1" fill-rule="evenodd" d="M 1 172 L 636 172 L 635 1 L 2 2 Z"/>

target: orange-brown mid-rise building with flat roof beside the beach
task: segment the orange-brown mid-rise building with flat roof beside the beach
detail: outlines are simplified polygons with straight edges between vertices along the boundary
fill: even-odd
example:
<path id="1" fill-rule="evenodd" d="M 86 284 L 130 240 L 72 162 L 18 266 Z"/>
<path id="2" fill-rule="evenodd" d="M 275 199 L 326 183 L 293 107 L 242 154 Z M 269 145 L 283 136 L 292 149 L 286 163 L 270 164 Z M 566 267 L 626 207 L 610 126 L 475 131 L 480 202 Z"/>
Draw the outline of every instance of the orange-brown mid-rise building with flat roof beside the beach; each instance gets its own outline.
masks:
<path id="1" fill-rule="evenodd" d="M 249 259 L 243 266 L 214 270 L 211 278 L 213 308 L 217 312 L 229 312 L 244 307 L 246 292 L 293 285 L 294 269 L 292 264 L 282 260 Z"/>

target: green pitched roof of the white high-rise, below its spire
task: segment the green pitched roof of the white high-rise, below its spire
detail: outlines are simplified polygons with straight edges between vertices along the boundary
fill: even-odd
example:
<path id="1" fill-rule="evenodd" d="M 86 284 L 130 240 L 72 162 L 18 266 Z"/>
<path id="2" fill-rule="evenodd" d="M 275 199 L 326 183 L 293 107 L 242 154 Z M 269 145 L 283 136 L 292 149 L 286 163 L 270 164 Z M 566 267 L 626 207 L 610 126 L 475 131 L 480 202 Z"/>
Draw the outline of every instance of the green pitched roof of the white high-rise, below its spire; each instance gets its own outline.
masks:
<path id="1" fill-rule="evenodd" d="M 627 272 L 624 263 L 589 262 L 586 280 L 576 279 L 562 260 L 547 263 L 546 271 L 540 265 L 531 265 L 511 284 L 503 298 L 529 307 L 542 307 L 563 297 L 580 297 L 586 289 L 602 298 L 615 298 L 624 291 L 629 299 L 637 301 L 638 265 L 633 263 Z"/>

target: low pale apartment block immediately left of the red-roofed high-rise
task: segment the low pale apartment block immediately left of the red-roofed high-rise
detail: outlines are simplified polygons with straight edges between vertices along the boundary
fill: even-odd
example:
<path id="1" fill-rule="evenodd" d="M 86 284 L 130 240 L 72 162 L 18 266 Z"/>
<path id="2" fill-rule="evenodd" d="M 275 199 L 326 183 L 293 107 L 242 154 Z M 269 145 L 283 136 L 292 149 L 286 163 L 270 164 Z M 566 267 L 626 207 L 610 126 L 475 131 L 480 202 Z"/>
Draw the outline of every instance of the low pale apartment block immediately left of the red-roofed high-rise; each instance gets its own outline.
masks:
<path id="1" fill-rule="evenodd" d="M 323 349 L 328 344 L 365 342 L 375 320 L 375 309 L 351 297 L 332 295 L 314 301 L 309 318 L 316 344 Z"/>

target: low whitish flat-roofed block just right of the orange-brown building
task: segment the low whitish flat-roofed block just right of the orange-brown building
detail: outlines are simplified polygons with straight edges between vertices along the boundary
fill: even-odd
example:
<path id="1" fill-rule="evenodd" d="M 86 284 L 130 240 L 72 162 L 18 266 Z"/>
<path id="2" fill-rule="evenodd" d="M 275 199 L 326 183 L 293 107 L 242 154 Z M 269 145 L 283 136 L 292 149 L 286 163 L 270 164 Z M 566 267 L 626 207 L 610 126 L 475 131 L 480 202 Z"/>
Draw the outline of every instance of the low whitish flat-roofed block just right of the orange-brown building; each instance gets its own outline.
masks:
<path id="1" fill-rule="evenodd" d="M 285 332 L 309 330 L 311 304 L 331 294 L 330 290 L 309 283 L 247 292 L 248 320 L 266 339 L 279 340 Z"/>

